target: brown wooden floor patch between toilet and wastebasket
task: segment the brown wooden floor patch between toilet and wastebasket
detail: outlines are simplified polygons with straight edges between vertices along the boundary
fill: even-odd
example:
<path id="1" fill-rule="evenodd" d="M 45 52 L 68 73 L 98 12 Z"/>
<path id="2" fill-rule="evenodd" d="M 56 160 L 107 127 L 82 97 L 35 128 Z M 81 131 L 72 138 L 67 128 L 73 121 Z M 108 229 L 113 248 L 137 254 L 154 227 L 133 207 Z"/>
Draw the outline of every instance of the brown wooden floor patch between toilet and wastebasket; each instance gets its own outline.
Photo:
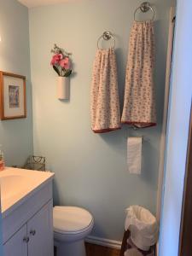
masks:
<path id="1" fill-rule="evenodd" d="M 120 251 L 95 244 L 85 243 L 87 256 L 119 256 Z"/>

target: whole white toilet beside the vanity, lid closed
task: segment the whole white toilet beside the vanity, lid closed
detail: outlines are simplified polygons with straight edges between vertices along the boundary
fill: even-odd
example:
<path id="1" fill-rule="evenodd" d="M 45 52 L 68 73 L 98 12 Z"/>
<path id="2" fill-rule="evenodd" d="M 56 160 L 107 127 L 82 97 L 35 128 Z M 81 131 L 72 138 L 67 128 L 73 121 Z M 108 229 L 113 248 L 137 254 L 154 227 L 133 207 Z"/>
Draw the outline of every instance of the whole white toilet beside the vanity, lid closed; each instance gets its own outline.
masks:
<path id="1" fill-rule="evenodd" d="M 84 238 L 93 228 L 90 212 L 79 207 L 54 207 L 56 256 L 86 256 Z"/>

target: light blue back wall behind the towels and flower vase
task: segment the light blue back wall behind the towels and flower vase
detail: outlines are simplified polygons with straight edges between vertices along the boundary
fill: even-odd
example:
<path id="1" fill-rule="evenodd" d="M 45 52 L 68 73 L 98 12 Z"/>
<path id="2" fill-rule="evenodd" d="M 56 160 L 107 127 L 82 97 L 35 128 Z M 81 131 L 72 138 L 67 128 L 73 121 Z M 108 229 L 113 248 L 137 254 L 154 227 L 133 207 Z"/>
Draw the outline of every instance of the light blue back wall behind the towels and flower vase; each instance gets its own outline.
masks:
<path id="1" fill-rule="evenodd" d="M 169 11 L 174 0 L 150 1 L 156 10 L 158 126 L 96 135 L 90 131 L 90 80 L 96 41 L 115 34 L 121 105 L 125 61 L 133 13 L 142 1 L 92 0 L 30 9 L 34 152 L 46 156 L 55 172 L 55 203 L 85 207 L 95 218 L 94 236 L 121 240 L 125 208 L 143 205 L 155 212 L 163 108 Z M 56 98 L 50 49 L 58 44 L 73 53 L 75 76 L 70 102 Z M 126 138 L 144 135 L 143 174 L 126 166 Z"/>

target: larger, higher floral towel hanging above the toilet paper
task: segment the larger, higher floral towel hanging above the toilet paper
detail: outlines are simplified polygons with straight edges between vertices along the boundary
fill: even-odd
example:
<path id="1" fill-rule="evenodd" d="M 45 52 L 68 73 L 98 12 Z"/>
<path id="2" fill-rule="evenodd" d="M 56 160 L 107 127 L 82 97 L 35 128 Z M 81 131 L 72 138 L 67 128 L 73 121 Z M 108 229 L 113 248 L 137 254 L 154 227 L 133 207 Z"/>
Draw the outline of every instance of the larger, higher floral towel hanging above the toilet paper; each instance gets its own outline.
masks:
<path id="1" fill-rule="evenodd" d="M 134 21 L 131 29 L 121 122 L 140 128 L 156 125 L 153 21 Z"/>

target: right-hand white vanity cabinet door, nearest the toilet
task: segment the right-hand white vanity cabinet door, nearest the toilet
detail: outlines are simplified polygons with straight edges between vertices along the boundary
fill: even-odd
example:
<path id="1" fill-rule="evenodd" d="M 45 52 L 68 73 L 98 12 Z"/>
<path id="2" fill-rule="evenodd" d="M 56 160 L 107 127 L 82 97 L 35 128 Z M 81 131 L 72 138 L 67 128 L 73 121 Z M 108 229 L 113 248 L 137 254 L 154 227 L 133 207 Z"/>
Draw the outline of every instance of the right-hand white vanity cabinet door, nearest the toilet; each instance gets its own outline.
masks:
<path id="1" fill-rule="evenodd" d="M 28 256 L 53 256 L 53 205 L 50 201 L 27 223 Z"/>

